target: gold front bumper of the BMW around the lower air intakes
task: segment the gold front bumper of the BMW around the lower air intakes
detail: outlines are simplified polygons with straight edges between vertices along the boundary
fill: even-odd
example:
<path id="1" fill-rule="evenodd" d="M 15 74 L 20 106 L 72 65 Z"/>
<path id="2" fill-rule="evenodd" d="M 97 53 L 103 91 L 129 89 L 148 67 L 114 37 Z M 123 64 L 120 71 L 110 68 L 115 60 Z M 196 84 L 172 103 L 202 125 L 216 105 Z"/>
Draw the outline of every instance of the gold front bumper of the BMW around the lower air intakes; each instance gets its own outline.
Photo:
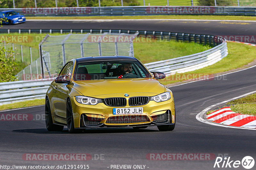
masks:
<path id="1" fill-rule="evenodd" d="M 172 98 L 164 102 L 149 101 L 143 106 L 142 114 L 113 115 L 113 108 L 98 103 L 85 105 L 76 102 L 75 97 L 71 100 L 75 128 L 121 128 L 171 125 L 175 123 L 175 107 Z M 125 106 L 123 108 L 129 108 Z"/>

